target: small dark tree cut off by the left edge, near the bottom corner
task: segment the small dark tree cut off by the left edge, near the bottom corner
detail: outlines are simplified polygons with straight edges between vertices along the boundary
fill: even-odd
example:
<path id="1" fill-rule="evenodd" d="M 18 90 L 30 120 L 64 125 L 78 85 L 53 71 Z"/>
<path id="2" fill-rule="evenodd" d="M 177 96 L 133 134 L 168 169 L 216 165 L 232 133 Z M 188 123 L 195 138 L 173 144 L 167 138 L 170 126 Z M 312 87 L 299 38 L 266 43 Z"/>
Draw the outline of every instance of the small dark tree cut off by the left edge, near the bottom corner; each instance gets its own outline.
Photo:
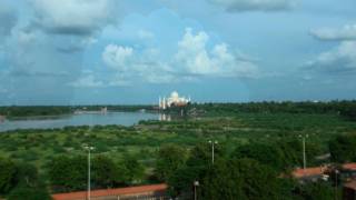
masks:
<path id="1" fill-rule="evenodd" d="M 16 186 L 16 172 L 14 162 L 0 158 L 0 193 L 8 193 Z"/>

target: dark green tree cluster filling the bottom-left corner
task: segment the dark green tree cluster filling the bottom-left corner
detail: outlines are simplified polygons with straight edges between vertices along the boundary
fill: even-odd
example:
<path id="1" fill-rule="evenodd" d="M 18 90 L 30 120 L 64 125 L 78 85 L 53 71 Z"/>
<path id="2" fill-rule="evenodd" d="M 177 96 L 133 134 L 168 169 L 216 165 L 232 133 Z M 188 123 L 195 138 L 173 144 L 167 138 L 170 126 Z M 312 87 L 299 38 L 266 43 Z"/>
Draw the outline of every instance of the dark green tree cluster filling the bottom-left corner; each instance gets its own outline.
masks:
<path id="1" fill-rule="evenodd" d="M 51 199 L 36 167 L 0 158 L 0 196 L 7 196 L 8 200 Z"/>

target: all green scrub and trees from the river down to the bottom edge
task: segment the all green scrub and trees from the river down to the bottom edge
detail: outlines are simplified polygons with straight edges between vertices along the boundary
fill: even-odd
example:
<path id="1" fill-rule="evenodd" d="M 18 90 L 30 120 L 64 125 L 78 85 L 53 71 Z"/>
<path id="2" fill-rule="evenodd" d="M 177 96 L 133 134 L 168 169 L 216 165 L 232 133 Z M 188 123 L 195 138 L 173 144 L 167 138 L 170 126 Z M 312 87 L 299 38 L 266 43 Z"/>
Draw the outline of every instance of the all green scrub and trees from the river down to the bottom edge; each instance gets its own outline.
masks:
<path id="1" fill-rule="evenodd" d="M 82 146 L 91 144 L 92 188 L 165 181 L 171 196 L 189 199 L 198 180 L 204 199 L 256 199 L 260 192 L 268 199 L 328 199 L 328 182 L 303 187 L 278 174 L 301 166 L 301 136 L 308 136 L 308 166 L 356 161 L 356 122 L 343 112 L 354 104 L 190 104 L 189 116 L 174 121 L 2 132 L 0 194 L 42 193 L 46 199 L 47 191 L 83 190 L 88 168 Z M 208 140 L 218 141 L 214 164 Z M 330 160 L 318 158 L 327 153 Z"/>

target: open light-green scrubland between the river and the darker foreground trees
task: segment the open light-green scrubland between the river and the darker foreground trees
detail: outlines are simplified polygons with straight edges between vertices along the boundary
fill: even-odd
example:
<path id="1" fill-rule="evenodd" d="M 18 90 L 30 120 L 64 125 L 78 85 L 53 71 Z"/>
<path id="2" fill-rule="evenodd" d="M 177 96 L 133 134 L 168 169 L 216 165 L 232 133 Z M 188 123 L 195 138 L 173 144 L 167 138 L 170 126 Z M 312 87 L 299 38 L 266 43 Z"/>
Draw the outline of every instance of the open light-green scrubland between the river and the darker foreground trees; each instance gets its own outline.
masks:
<path id="1" fill-rule="evenodd" d="M 159 147 L 176 143 L 191 148 L 209 139 L 228 150 L 249 142 L 278 142 L 308 134 L 307 143 L 327 153 L 327 142 L 336 134 L 356 132 L 356 122 L 337 114 L 237 113 L 230 117 L 202 117 L 171 122 L 142 121 L 134 127 L 69 127 L 53 130 L 18 130 L 0 133 L 0 157 L 33 163 L 46 177 L 47 164 L 56 157 L 86 154 L 82 146 L 96 147 L 95 154 L 121 160 L 137 158 L 147 174 L 155 166 Z"/>

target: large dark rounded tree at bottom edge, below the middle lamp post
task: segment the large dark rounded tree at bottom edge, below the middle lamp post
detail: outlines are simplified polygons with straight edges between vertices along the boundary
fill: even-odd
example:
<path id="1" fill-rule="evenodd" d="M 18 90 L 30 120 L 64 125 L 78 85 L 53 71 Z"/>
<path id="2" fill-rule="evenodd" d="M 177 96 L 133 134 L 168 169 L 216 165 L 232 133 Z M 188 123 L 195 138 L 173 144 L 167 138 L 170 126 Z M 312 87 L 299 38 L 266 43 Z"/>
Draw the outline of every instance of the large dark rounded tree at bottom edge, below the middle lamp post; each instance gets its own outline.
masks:
<path id="1" fill-rule="evenodd" d="M 210 167 L 202 180 L 202 199 L 277 199 L 280 192 L 277 174 L 251 159 L 220 160 Z"/>

